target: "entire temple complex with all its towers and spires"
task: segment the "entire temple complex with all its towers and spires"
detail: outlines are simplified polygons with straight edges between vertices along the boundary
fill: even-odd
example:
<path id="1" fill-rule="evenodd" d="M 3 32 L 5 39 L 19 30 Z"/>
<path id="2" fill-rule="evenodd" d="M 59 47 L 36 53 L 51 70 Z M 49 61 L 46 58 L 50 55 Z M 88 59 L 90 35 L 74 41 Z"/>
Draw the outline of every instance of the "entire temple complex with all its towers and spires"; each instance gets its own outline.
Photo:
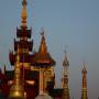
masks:
<path id="1" fill-rule="evenodd" d="M 16 28 L 14 51 L 10 51 L 9 59 L 13 70 L 4 73 L 0 69 L 0 99 L 70 99 L 68 87 L 69 61 L 66 52 L 63 61 L 63 87 L 55 88 L 56 62 L 47 50 L 44 30 L 41 32 L 41 43 L 37 52 L 33 52 L 32 29 L 26 24 L 28 1 L 22 1 L 21 25 Z M 82 68 L 81 99 L 87 96 L 87 70 Z"/>

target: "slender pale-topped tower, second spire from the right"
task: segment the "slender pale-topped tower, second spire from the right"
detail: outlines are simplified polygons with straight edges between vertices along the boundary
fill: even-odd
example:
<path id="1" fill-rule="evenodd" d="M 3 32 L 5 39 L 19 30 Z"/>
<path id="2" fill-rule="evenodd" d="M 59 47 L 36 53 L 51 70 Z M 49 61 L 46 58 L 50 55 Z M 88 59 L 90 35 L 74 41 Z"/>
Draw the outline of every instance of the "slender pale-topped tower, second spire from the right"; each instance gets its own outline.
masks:
<path id="1" fill-rule="evenodd" d="M 69 62 L 66 55 L 65 51 L 65 57 L 63 61 L 63 67 L 64 67 L 64 75 L 63 75 L 63 96 L 62 99 L 70 99 L 69 97 L 69 88 L 68 88 L 68 67 L 69 67 Z"/>

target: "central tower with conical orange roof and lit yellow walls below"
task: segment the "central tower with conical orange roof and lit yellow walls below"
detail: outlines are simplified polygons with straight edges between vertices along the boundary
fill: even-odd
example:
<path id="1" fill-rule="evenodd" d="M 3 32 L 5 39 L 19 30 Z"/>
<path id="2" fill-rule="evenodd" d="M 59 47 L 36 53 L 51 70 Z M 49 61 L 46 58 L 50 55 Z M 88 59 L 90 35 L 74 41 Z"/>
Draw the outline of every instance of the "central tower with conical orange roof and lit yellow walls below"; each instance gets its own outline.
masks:
<path id="1" fill-rule="evenodd" d="M 54 68 L 55 61 L 51 57 L 50 53 L 47 52 L 47 46 L 45 42 L 44 31 L 41 33 L 42 40 L 38 52 L 35 53 L 33 57 L 33 66 L 38 69 L 40 72 L 40 95 L 42 92 L 48 92 L 54 88 Z"/>

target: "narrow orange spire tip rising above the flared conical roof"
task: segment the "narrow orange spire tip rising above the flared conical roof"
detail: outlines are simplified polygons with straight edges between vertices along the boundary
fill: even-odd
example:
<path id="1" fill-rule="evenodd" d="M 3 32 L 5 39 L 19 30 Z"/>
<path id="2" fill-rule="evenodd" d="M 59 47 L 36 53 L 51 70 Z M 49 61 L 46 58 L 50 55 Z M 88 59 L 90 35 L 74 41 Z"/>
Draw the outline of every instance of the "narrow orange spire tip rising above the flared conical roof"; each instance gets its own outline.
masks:
<path id="1" fill-rule="evenodd" d="M 42 41 L 41 41 L 38 52 L 42 54 L 46 54 L 47 53 L 47 46 L 46 46 L 46 42 L 45 42 L 44 30 L 42 31 L 41 35 L 42 35 Z"/>

